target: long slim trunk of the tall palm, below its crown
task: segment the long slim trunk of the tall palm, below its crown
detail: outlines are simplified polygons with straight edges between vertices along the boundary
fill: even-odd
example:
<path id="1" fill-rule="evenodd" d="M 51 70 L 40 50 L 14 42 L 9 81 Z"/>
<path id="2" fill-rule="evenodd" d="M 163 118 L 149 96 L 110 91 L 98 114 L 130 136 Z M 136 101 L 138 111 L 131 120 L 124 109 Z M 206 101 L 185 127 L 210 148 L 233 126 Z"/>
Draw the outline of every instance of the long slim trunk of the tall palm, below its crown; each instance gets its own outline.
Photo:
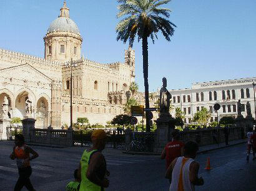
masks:
<path id="1" fill-rule="evenodd" d="M 142 55 L 143 55 L 143 75 L 144 75 L 144 86 L 145 86 L 145 108 L 149 108 L 149 52 L 147 47 L 147 35 L 142 37 Z M 145 112 L 145 126 L 146 131 L 150 132 L 150 119 L 149 112 Z"/>

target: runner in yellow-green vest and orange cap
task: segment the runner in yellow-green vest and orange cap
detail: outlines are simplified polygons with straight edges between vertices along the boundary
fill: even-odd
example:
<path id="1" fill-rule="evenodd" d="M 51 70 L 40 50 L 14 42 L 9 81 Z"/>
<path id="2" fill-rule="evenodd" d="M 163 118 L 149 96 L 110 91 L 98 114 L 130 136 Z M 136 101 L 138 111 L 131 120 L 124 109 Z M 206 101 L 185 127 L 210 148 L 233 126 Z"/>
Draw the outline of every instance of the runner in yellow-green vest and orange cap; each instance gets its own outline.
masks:
<path id="1" fill-rule="evenodd" d="M 81 185 L 79 191 L 102 191 L 109 187 L 109 172 L 101 151 L 105 148 L 107 134 L 102 129 L 92 133 L 92 147 L 82 154 L 79 165 Z"/>

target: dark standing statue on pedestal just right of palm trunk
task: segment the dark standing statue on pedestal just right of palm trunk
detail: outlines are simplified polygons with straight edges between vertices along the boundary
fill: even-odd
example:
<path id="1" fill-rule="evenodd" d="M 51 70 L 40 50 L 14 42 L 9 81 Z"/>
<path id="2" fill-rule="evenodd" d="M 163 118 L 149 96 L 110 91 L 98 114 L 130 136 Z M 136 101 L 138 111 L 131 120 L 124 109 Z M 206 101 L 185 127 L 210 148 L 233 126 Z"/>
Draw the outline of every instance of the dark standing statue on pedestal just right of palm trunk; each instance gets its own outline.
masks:
<path id="1" fill-rule="evenodd" d="M 167 80 L 166 78 L 162 78 L 163 86 L 160 90 L 160 115 L 170 115 L 170 98 L 172 98 L 172 95 L 170 95 L 170 92 L 166 89 L 167 86 Z"/>

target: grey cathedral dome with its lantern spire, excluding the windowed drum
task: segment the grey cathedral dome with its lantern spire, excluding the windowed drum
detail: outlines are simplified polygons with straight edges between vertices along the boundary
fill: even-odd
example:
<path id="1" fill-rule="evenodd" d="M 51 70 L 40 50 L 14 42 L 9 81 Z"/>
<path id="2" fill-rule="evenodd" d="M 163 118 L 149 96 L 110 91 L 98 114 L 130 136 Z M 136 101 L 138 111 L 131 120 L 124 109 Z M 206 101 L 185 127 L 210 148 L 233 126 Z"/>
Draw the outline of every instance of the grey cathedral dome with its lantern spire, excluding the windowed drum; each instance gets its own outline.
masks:
<path id="1" fill-rule="evenodd" d="M 74 32 L 75 34 L 80 35 L 79 29 L 74 21 L 69 17 L 69 8 L 66 6 L 66 1 L 64 1 L 64 5 L 61 8 L 61 14 L 57 19 L 52 21 L 49 29 L 47 30 L 47 34 L 50 32 Z"/>

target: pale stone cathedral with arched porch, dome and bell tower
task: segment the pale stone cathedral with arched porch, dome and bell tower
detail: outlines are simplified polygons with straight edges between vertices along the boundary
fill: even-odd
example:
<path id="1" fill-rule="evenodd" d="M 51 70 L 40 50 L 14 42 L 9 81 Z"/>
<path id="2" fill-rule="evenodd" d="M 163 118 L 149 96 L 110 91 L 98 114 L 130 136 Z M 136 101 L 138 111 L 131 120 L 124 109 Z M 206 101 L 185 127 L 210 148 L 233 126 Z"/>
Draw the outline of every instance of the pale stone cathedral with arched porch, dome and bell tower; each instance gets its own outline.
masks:
<path id="1" fill-rule="evenodd" d="M 65 1 L 60 11 L 44 36 L 44 58 L 0 49 L 1 113 L 7 106 L 8 118 L 30 114 L 36 128 L 51 124 L 58 129 L 70 125 L 72 95 L 73 123 L 88 118 L 91 124 L 106 124 L 124 113 L 135 78 L 135 52 L 125 50 L 124 63 L 81 57 L 82 37 Z"/>

